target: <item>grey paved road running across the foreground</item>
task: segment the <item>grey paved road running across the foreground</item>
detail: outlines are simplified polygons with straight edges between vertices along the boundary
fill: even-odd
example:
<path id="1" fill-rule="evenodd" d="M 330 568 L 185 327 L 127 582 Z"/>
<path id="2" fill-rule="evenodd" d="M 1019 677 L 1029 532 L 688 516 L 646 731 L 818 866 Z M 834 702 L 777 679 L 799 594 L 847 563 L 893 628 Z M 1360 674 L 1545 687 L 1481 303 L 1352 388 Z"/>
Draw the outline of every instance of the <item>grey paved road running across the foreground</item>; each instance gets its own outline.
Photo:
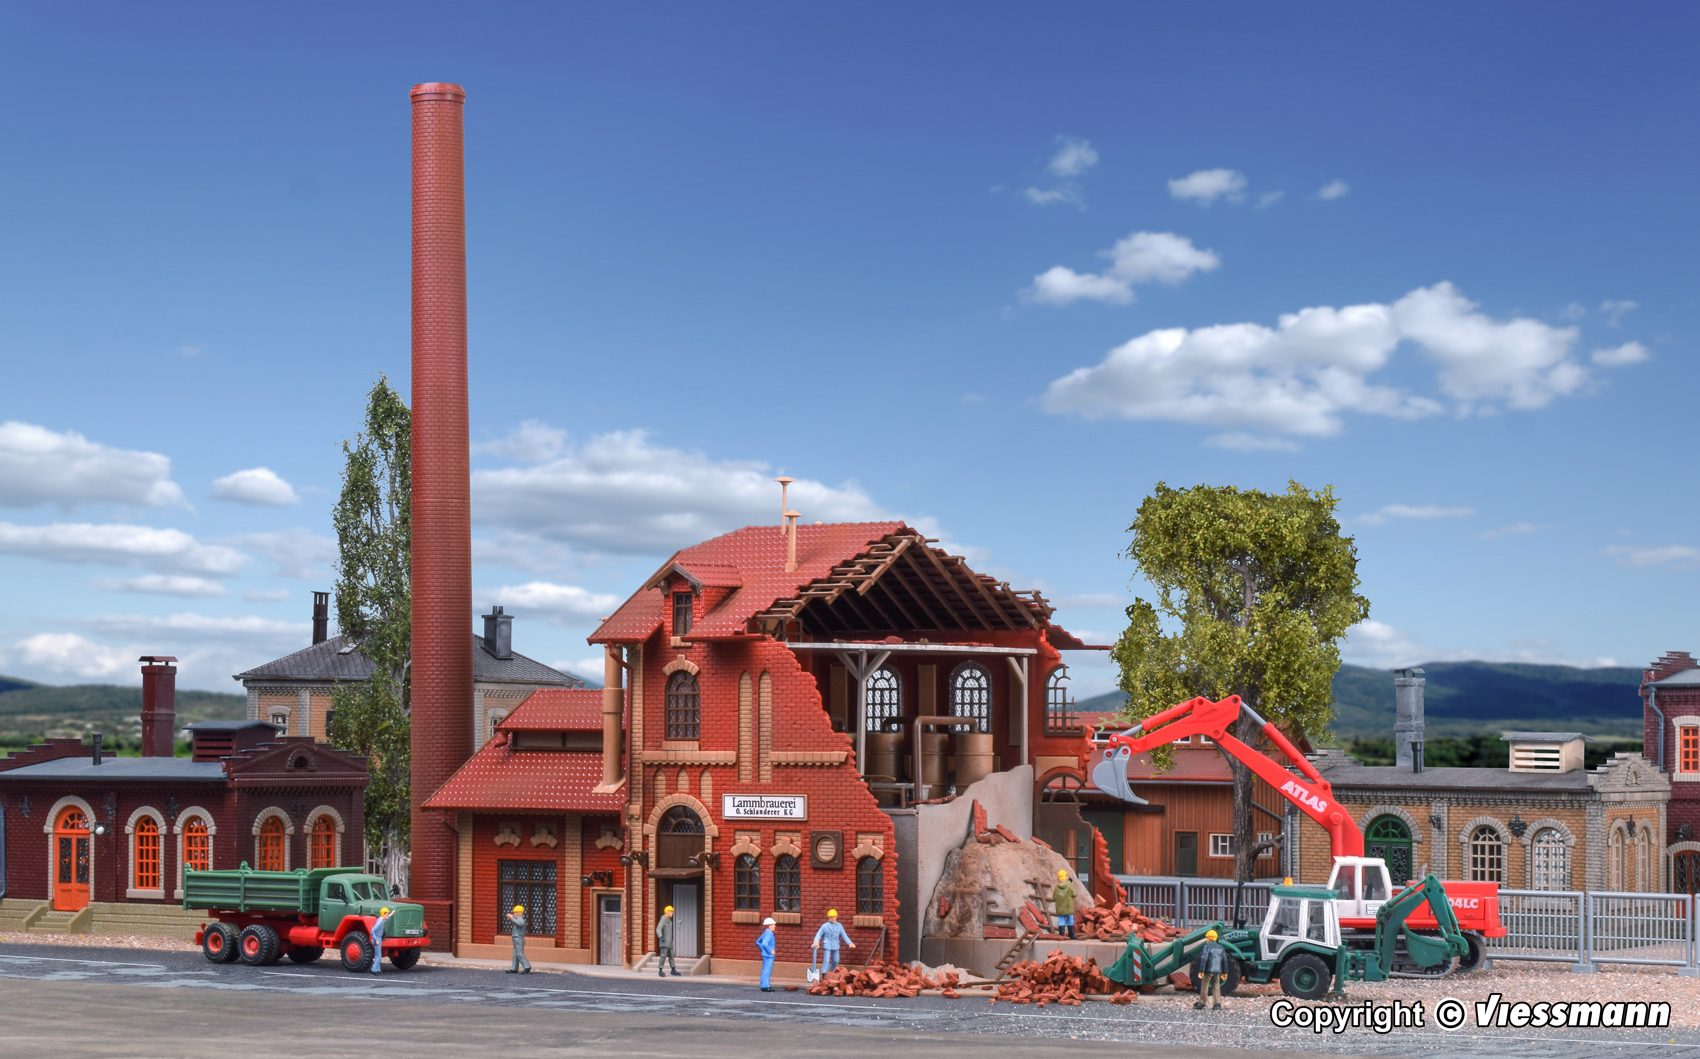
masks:
<path id="1" fill-rule="evenodd" d="M 165 991 L 173 991 L 167 994 Z M 240 1001 L 231 996 L 240 993 Z M 1216 1045 L 1216 1047 L 1212 1047 Z M 0 947 L 0 1056 L 838 1056 L 901 1049 L 926 1059 L 1001 1056 L 1508 1056 L 1700 1059 L 1700 1034 L 1278 1030 L 1251 1011 L 1173 1005 L 991 1008 L 983 1001 L 760 994 L 750 986 L 578 974 L 512 977 L 434 967 L 348 974 L 214 966 L 194 952 Z M 1232 1052 L 1222 1049 L 1238 1049 Z"/>

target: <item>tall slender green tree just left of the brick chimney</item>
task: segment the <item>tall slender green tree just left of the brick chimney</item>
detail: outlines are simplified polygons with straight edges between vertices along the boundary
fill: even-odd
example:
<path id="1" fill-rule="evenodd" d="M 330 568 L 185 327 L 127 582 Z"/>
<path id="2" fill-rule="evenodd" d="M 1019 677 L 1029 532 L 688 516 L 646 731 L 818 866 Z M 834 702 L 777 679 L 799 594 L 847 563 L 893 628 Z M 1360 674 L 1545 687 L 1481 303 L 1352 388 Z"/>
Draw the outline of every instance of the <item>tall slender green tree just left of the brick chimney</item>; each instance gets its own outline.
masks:
<path id="1" fill-rule="evenodd" d="M 366 848 L 393 884 L 406 886 L 410 824 L 408 661 L 411 658 L 411 415 L 379 376 L 366 399 L 366 428 L 343 442 L 337 527 L 337 624 L 372 663 L 372 675 L 338 687 L 330 739 L 364 755 Z"/>

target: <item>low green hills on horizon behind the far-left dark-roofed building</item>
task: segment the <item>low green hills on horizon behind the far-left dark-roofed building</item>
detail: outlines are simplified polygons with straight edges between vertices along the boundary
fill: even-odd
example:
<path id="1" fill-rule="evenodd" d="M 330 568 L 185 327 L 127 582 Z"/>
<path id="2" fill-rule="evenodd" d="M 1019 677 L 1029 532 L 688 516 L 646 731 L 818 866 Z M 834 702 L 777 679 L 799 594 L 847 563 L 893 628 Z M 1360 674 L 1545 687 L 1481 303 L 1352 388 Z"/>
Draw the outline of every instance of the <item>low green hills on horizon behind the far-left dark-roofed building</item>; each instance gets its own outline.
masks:
<path id="1" fill-rule="evenodd" d="M 243 695 L 177 690 L 177 724 L 245 717 Z M 0 745 L 20 746 L 42 736 L 141 734 L 141 688 L 116 683 L 54 687 L 0 677 Z"/>

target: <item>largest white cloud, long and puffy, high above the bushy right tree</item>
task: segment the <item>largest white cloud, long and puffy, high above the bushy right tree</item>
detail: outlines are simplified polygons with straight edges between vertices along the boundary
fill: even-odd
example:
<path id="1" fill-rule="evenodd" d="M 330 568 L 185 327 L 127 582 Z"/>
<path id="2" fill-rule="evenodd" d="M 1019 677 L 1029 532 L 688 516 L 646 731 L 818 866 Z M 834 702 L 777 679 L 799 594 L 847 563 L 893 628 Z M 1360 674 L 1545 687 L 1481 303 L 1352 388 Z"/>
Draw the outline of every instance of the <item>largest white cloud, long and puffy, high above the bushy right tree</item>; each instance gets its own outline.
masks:
<path id="1" fill-rule="evenodd" d="M 1420 418 L 1443 406 L 1370 382 L 1402 342 L 1440 365 L 1455 410 L 1540 408 L 1588 369 L 1571 359 L 1576 328 L 1496 321 L 1440 282 L 1392 304 L 1316 306 L 1256 323 L 1148 331 L 1046 389 L 1040 408 L 1086 418 L 1173 420 L 1244 432 L 1326 437 L 1341 415 Z M 1222 435 L 1231 437 L 1231 435 Z M 1222 442 L 1217 442 L 1222 444 Z"/>

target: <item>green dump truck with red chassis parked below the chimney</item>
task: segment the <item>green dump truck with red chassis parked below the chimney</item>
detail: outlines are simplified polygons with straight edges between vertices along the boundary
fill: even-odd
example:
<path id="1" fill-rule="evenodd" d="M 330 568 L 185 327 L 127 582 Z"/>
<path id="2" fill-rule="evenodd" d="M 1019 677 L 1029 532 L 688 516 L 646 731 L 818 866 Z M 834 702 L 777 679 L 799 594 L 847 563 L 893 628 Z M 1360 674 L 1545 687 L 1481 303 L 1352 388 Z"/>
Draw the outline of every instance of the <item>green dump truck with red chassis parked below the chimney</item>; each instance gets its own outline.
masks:
<path id="1" fill-rule="evenodd" d="M 406 971 L 430 945 L 425 908 L 388 894 L 382 877 L 348 869 L 257 872 L 243 862 L 233 872 L 184 872 L 184 908 L 218 916 L 196 933 L 214 964 L 240 959 L 260 967 L 286 955 L 311 964 L 337 949 L 345 969 L 371 971 L 372 925 L 388 908 L 394 915 L 384 925 L 384 955 Z"/>

